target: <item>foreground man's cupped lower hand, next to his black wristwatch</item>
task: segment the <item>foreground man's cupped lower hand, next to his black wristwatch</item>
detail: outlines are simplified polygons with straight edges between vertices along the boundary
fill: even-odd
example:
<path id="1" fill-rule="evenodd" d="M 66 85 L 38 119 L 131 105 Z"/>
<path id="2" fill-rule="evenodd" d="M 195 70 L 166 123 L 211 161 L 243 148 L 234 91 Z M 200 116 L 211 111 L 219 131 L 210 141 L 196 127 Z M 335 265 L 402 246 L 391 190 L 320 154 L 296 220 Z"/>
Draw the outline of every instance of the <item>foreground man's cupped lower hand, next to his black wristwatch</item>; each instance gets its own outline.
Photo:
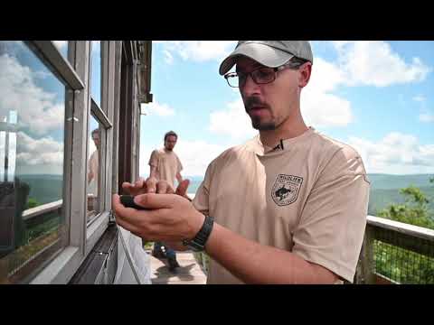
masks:
<path id="1" fill-rule="evenodd" d="M 117 194 L 112 208 L 119 226 L 147 241 L 164 241 L 179 249 L 183 239 L 192 239 L 202 228 L 205 217 L 180 195 L 139 194 L 134 201 L 147 210 L 124 207 Z"/>

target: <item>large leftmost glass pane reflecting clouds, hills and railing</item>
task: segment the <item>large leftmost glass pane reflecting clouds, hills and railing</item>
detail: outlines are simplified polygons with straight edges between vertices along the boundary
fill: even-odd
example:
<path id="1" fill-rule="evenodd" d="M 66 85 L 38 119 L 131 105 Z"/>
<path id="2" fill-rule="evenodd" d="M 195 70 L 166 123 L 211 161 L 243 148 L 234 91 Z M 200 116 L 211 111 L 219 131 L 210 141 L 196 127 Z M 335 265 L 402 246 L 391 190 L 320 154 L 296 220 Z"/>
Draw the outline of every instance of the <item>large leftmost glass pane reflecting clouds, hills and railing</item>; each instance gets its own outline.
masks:
<path id="1" fill-rule="evenodd" d="M 65 87 L 24 42 L 0 42 L 0 283 L 21 283 L 66 245 Z"/>

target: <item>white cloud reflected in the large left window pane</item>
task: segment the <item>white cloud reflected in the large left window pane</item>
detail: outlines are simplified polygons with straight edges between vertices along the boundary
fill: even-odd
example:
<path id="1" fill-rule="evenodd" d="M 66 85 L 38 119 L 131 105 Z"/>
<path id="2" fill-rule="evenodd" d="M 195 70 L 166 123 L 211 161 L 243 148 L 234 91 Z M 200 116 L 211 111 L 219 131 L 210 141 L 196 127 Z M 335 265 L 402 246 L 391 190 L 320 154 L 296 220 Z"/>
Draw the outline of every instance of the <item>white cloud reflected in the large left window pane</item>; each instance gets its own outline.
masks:
<path id="1" fill-rule="evenodd" d="M 45 76 L 22 66 L 14 57 L 0 56 L 0 116 L 17 112 L 18 124 L 37 135 L 63 127 L 64 104 L 56 95 L 44 91 L 34 81 Z"/>

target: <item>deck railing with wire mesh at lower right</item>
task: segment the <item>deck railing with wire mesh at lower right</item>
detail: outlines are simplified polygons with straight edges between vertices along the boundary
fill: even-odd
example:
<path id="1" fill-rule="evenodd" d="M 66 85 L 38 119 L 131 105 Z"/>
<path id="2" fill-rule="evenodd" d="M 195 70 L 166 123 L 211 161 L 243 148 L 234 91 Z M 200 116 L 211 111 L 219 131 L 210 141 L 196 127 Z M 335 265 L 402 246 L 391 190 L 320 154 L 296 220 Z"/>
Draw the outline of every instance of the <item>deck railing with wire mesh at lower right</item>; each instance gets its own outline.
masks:
<path id="1" fill-rule="evenodd" d="M 434 283 L 434 230 L 368 216 L 354 283 Z"/>

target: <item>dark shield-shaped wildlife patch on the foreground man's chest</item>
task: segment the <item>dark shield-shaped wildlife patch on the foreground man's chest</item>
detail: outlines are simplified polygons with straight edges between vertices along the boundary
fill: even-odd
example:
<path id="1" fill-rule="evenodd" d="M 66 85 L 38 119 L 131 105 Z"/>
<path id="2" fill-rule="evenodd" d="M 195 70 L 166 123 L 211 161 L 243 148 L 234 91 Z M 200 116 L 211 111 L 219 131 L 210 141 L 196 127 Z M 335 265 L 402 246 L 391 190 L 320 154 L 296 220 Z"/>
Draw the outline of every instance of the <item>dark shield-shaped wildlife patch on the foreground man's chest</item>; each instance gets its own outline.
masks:
<path id="1" fill-rule="evenodd" d="M 303 178 L 293 175 L 278 174 L 271 189 L 271 197 L 278 206 L 294 203 L 298 197 Z"/>

